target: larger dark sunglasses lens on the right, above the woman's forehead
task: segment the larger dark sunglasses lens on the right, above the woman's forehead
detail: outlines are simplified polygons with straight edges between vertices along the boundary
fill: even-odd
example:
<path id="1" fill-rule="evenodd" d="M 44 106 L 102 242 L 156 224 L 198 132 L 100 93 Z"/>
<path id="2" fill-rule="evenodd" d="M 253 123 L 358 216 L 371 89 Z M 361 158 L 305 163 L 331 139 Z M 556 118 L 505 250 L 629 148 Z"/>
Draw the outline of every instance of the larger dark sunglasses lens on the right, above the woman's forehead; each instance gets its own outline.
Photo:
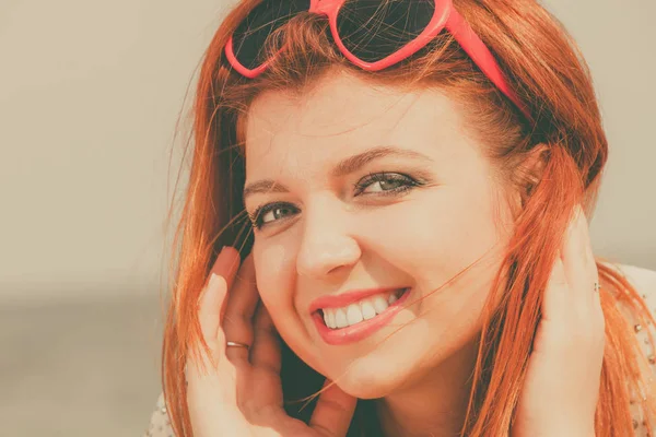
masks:
<path id="1" fill-rule="evenodd" d="M 337 16 L 337 28 L 350 52 L 376 62 L 417 38 L 434 11 L 433 0 L 348 0 Z"/>

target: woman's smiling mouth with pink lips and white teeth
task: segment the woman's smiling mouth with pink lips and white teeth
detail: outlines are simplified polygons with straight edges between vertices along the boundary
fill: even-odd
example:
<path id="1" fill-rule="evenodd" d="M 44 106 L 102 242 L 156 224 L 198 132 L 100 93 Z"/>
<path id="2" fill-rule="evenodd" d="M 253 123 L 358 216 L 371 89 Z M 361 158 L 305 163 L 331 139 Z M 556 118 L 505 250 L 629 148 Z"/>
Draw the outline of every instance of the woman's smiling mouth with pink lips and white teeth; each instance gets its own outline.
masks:
<path id="1" fill-rule="evenodd" d="M 328 344 L 360 341 L 387 324 L 402 309 L 410 288 L 385 291 L 340 307 L 318 308 L 313 319 Z"/>

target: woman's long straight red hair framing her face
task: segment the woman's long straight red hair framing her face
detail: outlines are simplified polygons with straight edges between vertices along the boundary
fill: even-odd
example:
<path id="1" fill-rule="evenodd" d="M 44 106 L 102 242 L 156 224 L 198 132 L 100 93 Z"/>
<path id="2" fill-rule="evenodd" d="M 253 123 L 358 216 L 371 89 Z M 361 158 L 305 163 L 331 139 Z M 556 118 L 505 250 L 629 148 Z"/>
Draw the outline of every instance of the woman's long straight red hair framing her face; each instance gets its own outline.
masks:
<path id="1" fill-rule="evenodd" d="M 482 315 L 482 332 L 461 435 L 507 435 L 540 317 L 542 292 L 558 248 L 577 203 L 589 217 L 599 190 L 608 143 L 588 68 L 562 25 L 534 0 L 454 0 L 456 9 L 485 42 L 519 98 L 528 123 L 476 68 L 448 33 L 387 70 L 367 73 L 351 66 L 330 43 L 327 23 L 300 14 L 268 40 L 268 50 L 286 49 L 255 80 L 242 78 L 223 59 L 230 34 L 257 4 L 243 0 L 214 35 L 200 70 L 194 106 L 194 152 L 174 248 L 175 283 L 163 344 L 163 387 L 172 425 L 191 436 L 184 366 L 202 344 L 196 303 L 221 247 L 247 253 L 251 229 L 243 210 L 244 119 L 253 99 L 266 90 L 301 93 L 333 69 L 372 83 L 408 90 L 437 87 L 462 109 L 470 132 L 499 168 L 508 193 L 519 193 L 515 232 L 505 250 Z M 542 163 L 540 172 L 527 166 Z M 176 257 L 174 257 L 175 259 Z M 635 393 L 645 416 L 656 413 L 648 364 L 622 311 L 644 326 L 656 323 L 634 287 L 617 270 L 597 260 L 606 316 L 596 435 L 633 433 L 629 409 Z M 651 338 L 649 332 L 649 340 Z M 295 378 L 289 378 L 293 374 Z M 300 376 L 301 375 L 301 376 Z M 283 391 L 289 414 L 306 420 L 309 410 L 292 401 L 311 397 L 321 378 L 283 344 Z M 365 405 L 350 435 L 365 435 Z M 649 423 L 646 423 L 652 433 Z"/>

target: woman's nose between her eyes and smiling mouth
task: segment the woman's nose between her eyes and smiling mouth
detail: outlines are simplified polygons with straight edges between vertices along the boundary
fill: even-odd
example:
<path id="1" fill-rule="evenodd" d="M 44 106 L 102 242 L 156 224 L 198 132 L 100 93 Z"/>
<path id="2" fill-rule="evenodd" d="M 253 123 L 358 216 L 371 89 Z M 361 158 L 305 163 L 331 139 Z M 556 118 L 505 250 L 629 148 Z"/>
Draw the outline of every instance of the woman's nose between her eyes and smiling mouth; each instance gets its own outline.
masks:
<path id="1" fill-rule="evenodd" d="M 326 279 L 358 262 L 362 251 L 354 236 L 349 234 L 348 218 L 349 212 L 341 202 L 306 204 L 296 256 L 298 275 Z"/>

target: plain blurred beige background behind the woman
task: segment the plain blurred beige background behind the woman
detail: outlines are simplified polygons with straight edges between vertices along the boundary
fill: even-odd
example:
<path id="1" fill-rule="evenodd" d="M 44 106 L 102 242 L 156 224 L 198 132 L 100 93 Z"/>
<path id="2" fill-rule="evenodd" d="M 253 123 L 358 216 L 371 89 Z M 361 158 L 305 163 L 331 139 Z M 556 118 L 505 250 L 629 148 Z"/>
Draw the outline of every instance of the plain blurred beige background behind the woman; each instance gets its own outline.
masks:
<path id="1" fill-rule="evenodd" d="M 0 2 L 1 435 L 145 428 L 175 125 L 232 2 Z M 656 270 L 656 3 L 547 4 L 587 57 L 611 144 L 595 250 Z"/>

